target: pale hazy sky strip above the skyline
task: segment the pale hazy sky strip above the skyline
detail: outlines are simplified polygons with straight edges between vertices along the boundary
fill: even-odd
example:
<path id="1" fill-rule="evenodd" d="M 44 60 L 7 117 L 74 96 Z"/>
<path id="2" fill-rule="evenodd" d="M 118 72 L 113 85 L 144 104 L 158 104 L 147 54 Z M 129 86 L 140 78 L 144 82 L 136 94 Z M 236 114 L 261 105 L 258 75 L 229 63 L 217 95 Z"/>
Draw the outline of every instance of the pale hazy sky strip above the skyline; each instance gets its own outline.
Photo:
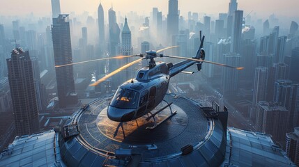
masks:
<path id="1" fill-rule="evenodd" d="M 95 13 L 100 0 L 61 0 L 61 11 L 77 14 L 88 11 Z M 126 13 L 136 11 L 139 14 L 149 15 L 153 7 L 158 7 L 162 15 L 167 15 L 168 0 L 101 0 L 105 13 L 112 6 L 114 10 Z M 184 15 L 188 11 L 199 13 L 226 13 L 229 0 L 178 0 L 178 8 Z M 238 0 L 238 9 L 245 10 L 245 15 L 254 10 L 258 16 L 298 17 L 299 0 Z M 50 15 L 51 0 L 0 0 L 0 15 Z"/>

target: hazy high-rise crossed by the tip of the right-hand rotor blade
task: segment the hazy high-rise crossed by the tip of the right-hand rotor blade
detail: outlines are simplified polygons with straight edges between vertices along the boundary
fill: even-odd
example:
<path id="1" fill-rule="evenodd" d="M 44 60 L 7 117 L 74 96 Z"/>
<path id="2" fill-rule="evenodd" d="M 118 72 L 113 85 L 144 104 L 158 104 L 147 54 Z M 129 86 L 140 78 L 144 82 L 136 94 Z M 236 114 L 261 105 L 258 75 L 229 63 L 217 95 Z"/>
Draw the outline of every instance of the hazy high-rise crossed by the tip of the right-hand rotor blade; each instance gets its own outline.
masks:
<path id="1" fill-rule="evenodd" d="M 224 54 L 224 64 L 239 67 L 239 54 Z M 238 90 L 238 70 L 224 68 L 222 70 L 222 90 L 224 93 Z"/>

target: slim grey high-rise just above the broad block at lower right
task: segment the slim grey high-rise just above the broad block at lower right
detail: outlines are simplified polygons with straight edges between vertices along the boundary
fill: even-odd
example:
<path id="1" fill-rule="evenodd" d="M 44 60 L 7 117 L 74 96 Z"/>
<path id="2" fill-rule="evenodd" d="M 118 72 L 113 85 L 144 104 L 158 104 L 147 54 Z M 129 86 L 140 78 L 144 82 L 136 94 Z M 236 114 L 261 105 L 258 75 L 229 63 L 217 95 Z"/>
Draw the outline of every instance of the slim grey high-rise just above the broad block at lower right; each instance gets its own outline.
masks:
<path id="1" fill-rule="evenodd" d="M 257 106 L 259 101 L 266 100 L 268 81 L 268 67 L 256 67 L 254 75 L 254 88 L 252 106 Z"/>

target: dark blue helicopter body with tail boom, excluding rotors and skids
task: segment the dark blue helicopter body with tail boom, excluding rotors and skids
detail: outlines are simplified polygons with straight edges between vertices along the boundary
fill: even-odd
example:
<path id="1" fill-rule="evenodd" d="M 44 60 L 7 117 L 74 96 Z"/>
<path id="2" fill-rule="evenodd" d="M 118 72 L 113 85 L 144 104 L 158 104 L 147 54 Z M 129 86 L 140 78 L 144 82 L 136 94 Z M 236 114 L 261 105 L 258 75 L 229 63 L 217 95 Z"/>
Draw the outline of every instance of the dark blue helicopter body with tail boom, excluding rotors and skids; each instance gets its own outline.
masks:
<path id="1" fill-rule="evenodd" d="M 176 64 L 156 63 L 155 67 L 141 68 L 135 79 L 118 87 L 107 109 L 110 120 L 127 122 L 135 120 L 155 109 L 167 93 L 169 80 L 195 61 Z"/>

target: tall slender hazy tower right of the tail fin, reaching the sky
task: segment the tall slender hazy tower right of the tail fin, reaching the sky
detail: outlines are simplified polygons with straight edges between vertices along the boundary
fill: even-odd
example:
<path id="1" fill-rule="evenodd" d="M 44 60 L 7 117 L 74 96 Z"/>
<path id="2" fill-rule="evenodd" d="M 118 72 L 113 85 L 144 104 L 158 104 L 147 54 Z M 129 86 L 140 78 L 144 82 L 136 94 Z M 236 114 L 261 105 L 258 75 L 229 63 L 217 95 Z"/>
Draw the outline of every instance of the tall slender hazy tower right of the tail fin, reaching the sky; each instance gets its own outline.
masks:
<path id="1" fill-rule="evenodd" d="M 236 10 L 233 15 L 233 38 L 231 52 L 240 54 L 240 45 L 242 40 L 243 10 Z"/>

